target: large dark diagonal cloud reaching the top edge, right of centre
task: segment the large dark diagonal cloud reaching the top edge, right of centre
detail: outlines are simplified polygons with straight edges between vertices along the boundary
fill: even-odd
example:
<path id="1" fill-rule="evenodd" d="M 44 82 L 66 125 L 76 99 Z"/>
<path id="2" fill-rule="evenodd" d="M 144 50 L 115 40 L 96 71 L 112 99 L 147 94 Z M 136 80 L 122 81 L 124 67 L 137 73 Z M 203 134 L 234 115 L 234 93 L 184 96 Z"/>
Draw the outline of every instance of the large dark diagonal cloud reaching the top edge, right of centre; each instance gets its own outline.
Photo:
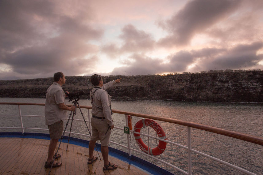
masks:
<path id="1" fill-rule="evenodd" d="M 186 45 L 196 33 L 226 17 L 238 7 L 239 0 L 195 0 L 188 2 L 170 20 L 160 22 L 160 26 L 170 35 L 160 39 L 161 46 Z"/>

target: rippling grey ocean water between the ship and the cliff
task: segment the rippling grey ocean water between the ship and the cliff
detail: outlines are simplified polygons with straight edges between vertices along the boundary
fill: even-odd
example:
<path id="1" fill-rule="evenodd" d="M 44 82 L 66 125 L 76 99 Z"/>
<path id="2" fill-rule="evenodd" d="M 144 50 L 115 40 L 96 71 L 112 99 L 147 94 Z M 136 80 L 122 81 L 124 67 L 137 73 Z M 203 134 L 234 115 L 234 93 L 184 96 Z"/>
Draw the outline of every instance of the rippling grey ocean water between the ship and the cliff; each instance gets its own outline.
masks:
<path id="1" fill-rule="evenodd" d="M 36 102 L 44 103 L 45 99 L 26 99 L 26 98 L 0 98 L 0 102 Z M 66 102 L 71 104 L 71 102 Z M 90 100 L 81 99 L 79 105 L 91 106 Z M 231 131 L 242 132 L 254 136 L 263 137 L 263 111 L 262 103 L 217 103 L 217 102 L 185 102 L 185 101 L 115 101 L 112 100 L 112 109 L 129 111 L 135 113 L 157 115 L 161 117 L 174 118 L 184 121 L 191 121 L 213 127 L 223 128 Z M 18 114 L 17 106 L 1 105 L 0 112 L 2 114 Z M 82 110 L 83 116 L 87 120 L 87 110 Z M 21 106 L 21 113 L 26 115 L 44 115 L 44 106 Z M 69 113 L 68 113 L 69 114 Z M 77 111 L 75 116 L 82 119 L 82 115 Z M 133 126 L 141 118 L 133 117 Z M 8 120 L 8 123 L 6 123 Z M 113 114 L 114 125 L 123 128 L 125 118 L 122 114 Z M 71 122 L 71 121 L 70 121 Z M 163 128 L 166 136 L 170 141 L 187 146 L 187 127 L 157 121 Z M 6 123 L 6 124 L 4 124 Z M 33 117 L 23 117 L 24 127 L 47 128 L 44 125 L 44 118 L 34 120 Z M 0 119 L 0 127 L 20 126 L 20 119 L 16 117 L 2 117 Z M 26 125 L 26 126 L 25 126 Z M 150 128 L 150 127 L 149 127 Z M 67 128 L 69 130 L 69 127 Z M 150 128 L 150 134 L 156 136 L 156 132 Z M 15 132 L 19 132 L 17 129 Z M 1 130 L 3 132 L 3 130 Z M 35 132 L 26 131 L 26 132 Z M 89 131 L 84 122 L 74 121 L 72 123 L 72 132 L 80 132 L 88 134 Z M 147 133 L 147 128 L 141 132 Z M 87 139 L 87 138 L 82 138 Z M 126 136 L 123 131 L 114 129 L 110 140 L 121 142 L 127 145 Z M 121 141 L 120 141 L 121 140 Z M 145 143 L 147 138 L 143 138 Z M 139 149 L 137 143 L 134 142 L 132 135 L 130 136 L 130 144 L 134 149 Z M 125 148 L 116 146 L 112 143 L 110 147 L 115 147 L 123 151 Z M 150 140 L 150 147 L 156 147 L 156 140 Z M 263 147 L 253 143 L 247 143 L 242 140 L 221 136 L 215 133 L 202 131 L 191 128 L 191 146 L 192 149 L 219 158 L 236 166 L 245 168 L 256 174 L 263 174 Z M 132 153 L 137 155 L 137 153 Z M 151 159 L 137 155 L 152 162 Z M 158 158 L 160 156 L 157 156 Z M 188 172 L 188 153 L 187 150 L 167 144 L 161 159 L 171 163 L 174 166 Z M 156 163 L 155 160 L 153 162 Z M 175 174 L 182 174 L 177 170 L 157 162 L 158 166 L 168 169 Z M 192 173 L 193 174 L 242 174 L 241 172 L 215 162 L 211 159 L 192 153 Z"/>

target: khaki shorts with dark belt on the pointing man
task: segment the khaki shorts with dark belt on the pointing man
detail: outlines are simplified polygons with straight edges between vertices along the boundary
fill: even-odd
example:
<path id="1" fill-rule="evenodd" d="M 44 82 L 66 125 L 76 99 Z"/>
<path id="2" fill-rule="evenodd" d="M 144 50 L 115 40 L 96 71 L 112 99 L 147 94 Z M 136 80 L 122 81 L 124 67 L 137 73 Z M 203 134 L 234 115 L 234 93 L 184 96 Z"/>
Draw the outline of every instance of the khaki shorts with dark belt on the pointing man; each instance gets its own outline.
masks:
<path id="1" fill-rule="evenodd" d="M 91 140 L 100 140 L 101 146 L 109 145 L 111 130 L 106 119 L 91 118 L 92 135 Z"/>

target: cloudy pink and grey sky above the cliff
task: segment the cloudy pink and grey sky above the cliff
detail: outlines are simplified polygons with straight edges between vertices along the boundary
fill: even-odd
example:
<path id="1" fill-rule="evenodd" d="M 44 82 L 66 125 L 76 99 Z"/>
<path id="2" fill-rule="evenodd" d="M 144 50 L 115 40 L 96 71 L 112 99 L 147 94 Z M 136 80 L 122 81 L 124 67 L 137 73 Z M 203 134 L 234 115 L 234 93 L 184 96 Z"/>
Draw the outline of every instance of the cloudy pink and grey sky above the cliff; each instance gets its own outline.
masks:
<path id="1" fill-rule="evenodd" d="M 262 0 L 0 0 L 0 80 L 263 69 Z"/>

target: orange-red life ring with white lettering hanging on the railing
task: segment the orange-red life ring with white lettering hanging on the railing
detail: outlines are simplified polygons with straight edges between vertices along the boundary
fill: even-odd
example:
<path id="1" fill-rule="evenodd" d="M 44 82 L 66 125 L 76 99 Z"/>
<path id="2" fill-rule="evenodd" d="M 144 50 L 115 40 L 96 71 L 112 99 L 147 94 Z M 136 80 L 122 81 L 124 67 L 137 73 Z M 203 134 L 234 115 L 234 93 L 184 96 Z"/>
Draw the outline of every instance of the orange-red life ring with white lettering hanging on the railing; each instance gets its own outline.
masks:
<path id="1" fill-rule="evenodd" d="M 141 128 L 145 128 L 145 126 L 150 126 L 151 128 L 155 130 L 155 132 L 157 133 L 160 139 L 166 140 L 166 136 L 165 136 L 165 133 L 162 127 L 151 119 L 144 118 L 144 119 L 139 120 L 134 126 L 134 131 L 140 132 Z M 146 146 L 145 143 L 143 143 L 141 139 L 141 135 L 134 133 L 134 138 L 136 140 L 136 143 L 140 147 L 140 149 L 144 151 L 145 153 L 149 154 L 148 146 Z M 157 147 L 149 149 L 150 155 L 160 155 L 164 152 L 165 148 L 166 148 L 166 142 L 159 140 L 159 144 Z"/>

